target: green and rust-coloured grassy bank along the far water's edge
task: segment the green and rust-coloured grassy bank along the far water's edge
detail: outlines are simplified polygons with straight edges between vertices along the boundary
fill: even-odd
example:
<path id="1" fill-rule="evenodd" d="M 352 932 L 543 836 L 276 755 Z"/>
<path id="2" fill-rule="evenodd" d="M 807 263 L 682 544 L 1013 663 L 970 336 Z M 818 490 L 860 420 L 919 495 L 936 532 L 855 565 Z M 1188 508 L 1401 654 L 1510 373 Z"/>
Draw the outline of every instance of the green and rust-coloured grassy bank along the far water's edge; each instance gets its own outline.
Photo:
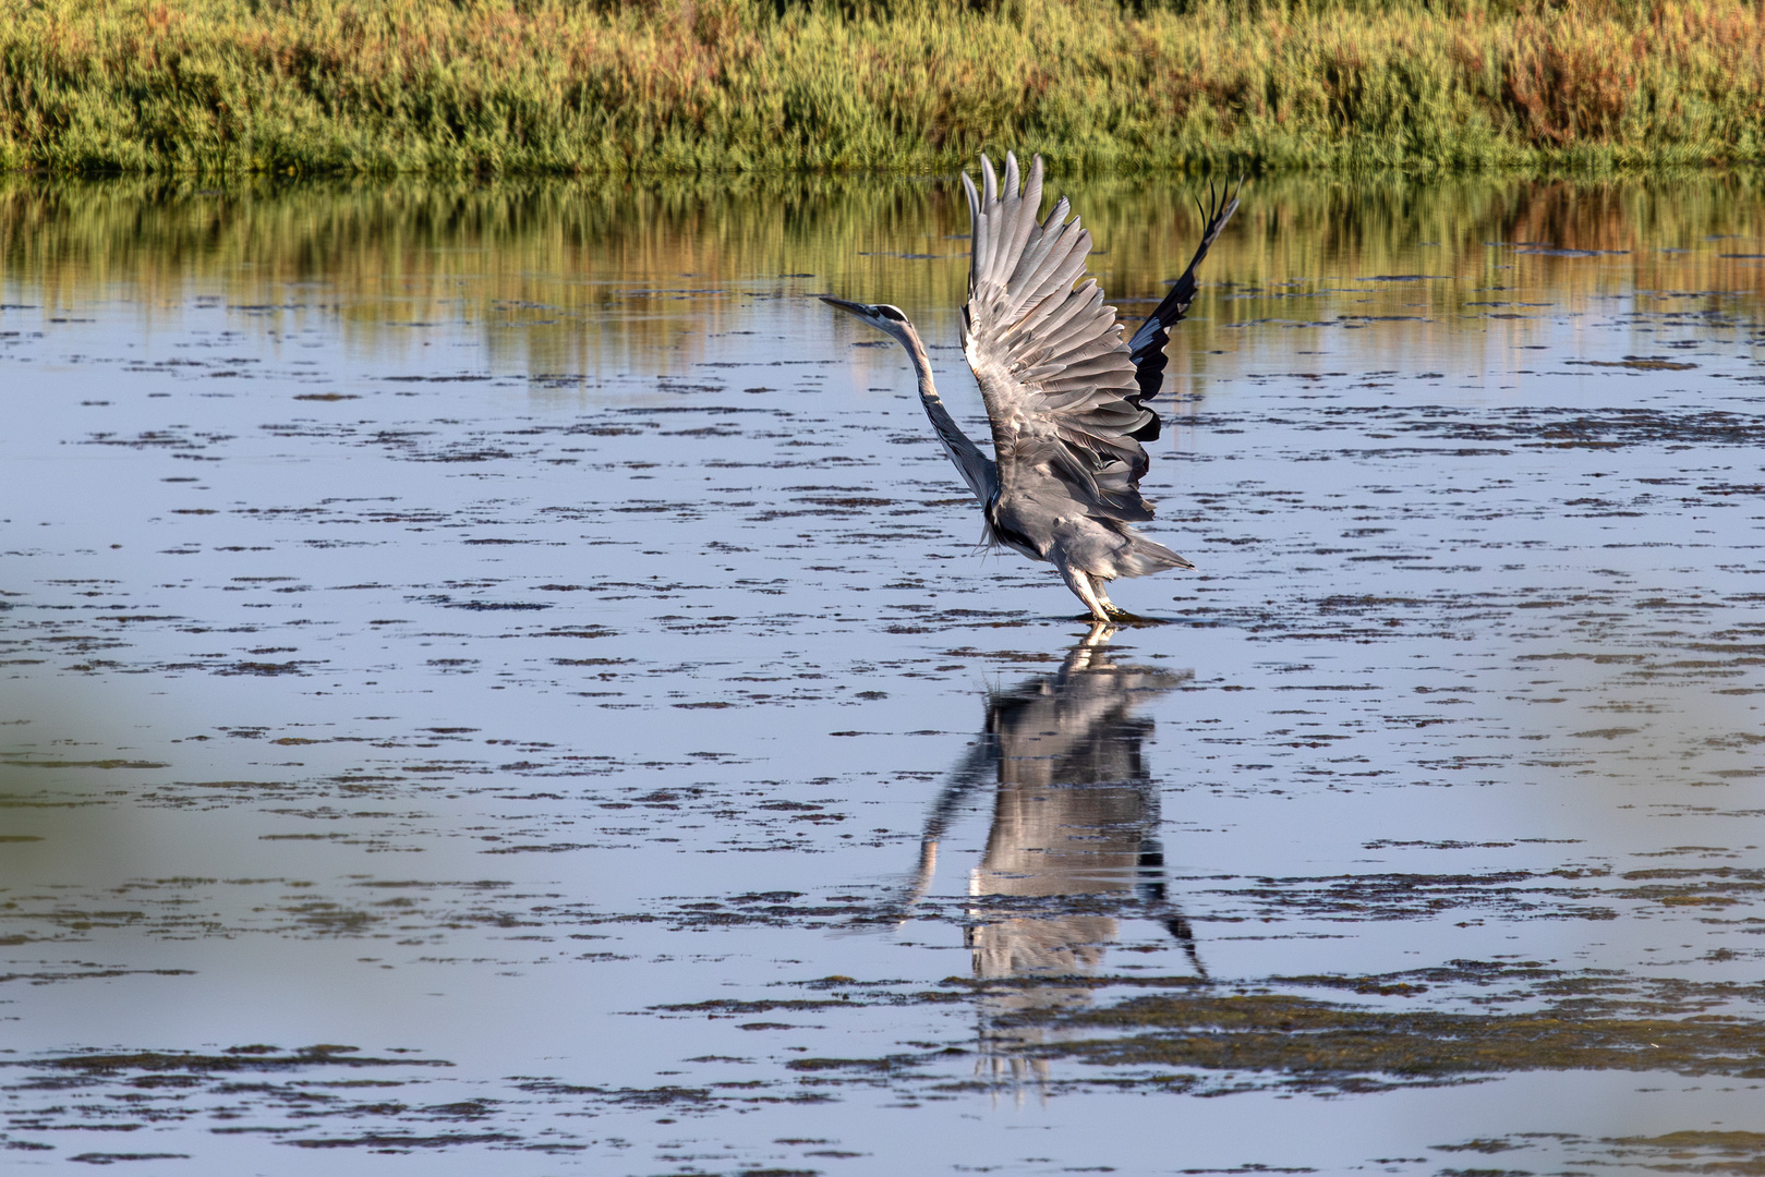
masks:
<path id="1" fill-rule="evenodd" d="M 1740 0 L 0 0 L 0 168 L 1765 162 Z"/>

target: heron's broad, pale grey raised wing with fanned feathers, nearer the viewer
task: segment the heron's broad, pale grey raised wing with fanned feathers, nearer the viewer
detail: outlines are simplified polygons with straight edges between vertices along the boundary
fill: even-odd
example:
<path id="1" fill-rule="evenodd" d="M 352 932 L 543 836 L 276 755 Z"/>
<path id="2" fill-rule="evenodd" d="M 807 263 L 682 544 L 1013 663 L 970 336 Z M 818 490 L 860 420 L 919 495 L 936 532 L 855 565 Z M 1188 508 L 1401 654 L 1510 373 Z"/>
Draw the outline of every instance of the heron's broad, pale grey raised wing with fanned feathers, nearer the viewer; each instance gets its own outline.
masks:
<path id="1" fill-rule="evenodd" d="M 1073 286 L 1091 235 L 1077 219 L 1064 224 L 1064 199 L 1036 221 L 1040 155 L 1022 189 L 1015 155 L 1004 157 L 1004 191 L 985 155 L 981 175 L 981 191 L 962 176 L 974 222 L 962 348 L 987 401 L 1001 489 L 1055 478 L 1091 515 L 1151 519 L 1138 438 L 1156 416 L 1138 406 L 1115 307 L 1094 281 Z"/>

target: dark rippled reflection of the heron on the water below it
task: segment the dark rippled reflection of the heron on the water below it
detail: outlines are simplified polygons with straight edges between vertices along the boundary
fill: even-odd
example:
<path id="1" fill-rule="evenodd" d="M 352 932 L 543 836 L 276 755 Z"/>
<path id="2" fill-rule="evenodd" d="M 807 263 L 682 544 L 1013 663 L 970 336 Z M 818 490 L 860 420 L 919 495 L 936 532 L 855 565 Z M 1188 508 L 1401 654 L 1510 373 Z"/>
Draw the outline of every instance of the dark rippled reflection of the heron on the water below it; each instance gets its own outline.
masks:
<path id="1" fill-rule="evenodd" d="M 985 732 L 927 819 L 914 900 L 932 884 L 946 829 L 980 789 L 995 787 L 987 852 L 969 877 L 969 895 L 1008 896 L 1020 914 L 987 919 L 974 911 L 978 921 L 965 941 L 980 979 L 1096 972 L 1117 939 L 1117 918 L 1093 912 L 1098 900 L 1130 893 L 1207 978 L 1190 925 L 1165 891 L 1158 785 L 1142 757 L 1153 720 L 1135 715 L 1147 699 L 1183 685 L 1188 672 L 1115 665 L 1107 656 L 1114 632 L 1093 626 L 1059 672 L 994 692 Z M 1003 1015 L 1087 999 L 1085 988 L 1054 983 L 1011 990 L 988 1006 Z M 1003 1062 L 1024 1069 L 1015 1055 L 1031 1043 L 1020 1032 L 985 1041 L 995 1069 Z M 1031 1066 L 1040 1073 L 1040 1064 Z"/>

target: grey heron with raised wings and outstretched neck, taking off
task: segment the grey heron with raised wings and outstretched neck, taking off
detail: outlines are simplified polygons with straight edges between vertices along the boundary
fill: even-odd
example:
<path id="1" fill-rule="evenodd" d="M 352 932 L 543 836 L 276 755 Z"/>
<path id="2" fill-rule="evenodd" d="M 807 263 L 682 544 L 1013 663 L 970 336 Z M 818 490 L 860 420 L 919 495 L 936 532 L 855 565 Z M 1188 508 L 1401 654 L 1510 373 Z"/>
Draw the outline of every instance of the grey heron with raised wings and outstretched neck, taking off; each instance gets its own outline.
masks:
<path id="1" fill-rule="evenodd" d="M 920 332 L 898 307 L 822 302 L 907 349 L 937 441 L 980 499 L 981 542 L 1054 565 L 1096 621 L 1124 618 L 1108 598 L 1110 581 L 1193 568 L 1131 526 L 1153 517 L 1153 505 L 1140 498 L 1140 476 L 1151 464 L 1140 443 L 1158 438 L 1158 413 L 1145 401 L 1165 381 L 1167 330 L 1195 300 L 1195 270 L 1237 212 L 1237 194 L 1227 191 L 1202 210 L 1207 228 L 1190 268 L 1124 339 L 1096 281 L 1075 286 L 1085 272 L 1091 233 L 1077 219 L 1066 222 L 1066 199 L 1036 221 L 1041 157 L 1031 161 L 1025 180 L 1017 157 L 1006 154 L 1001 191 L 981 155 L 981 178 L 976 191 L 962 175 L 974 226 L 962 351 L 987 402 L 990 459 L 950 416 Z"/>

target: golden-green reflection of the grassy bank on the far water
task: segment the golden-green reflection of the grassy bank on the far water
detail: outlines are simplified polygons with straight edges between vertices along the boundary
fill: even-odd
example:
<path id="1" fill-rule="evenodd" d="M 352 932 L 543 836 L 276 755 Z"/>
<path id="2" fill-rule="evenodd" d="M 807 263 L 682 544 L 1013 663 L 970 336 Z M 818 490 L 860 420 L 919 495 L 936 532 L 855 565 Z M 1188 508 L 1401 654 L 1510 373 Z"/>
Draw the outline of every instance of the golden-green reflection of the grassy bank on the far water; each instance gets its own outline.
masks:
<path id="1" fill-rule="evenodd" d="M 1096 235 L 1093 274 L 1128 314 L 1144 309 L 1128 300 L 1160 295 L 1188 259 L 1198 231 L 1191 189 L 1050 185 L 1071 196 Z M 916 180 L 242 182 L 224 191 L 0 180 L 0 270 L 44 316 L 109 298 L 122 284 L 146 316 L 166 304 L 182 314 L 196 293 L 221 295 L 245 330 L 314 325 L 372 349 L 420 349 L 413 321 L 464 323 L 484 332 L 492 364 L 530 374 L 632 371 L 635 351 L 646 353 L 642 367 L 655 351 L 690 364 L 706 358 L 708 335 L 752 323 L 752 300 L 808 291 L 897 302 L 953 342 L 953 325 L 927 314 L 962 296 L 965 233 L 955 187 Z M 1765 203 L 1747 175 L 1258 182 L 1209 256 L 1200 321 L 1174 335 L 1172 365 L 1205 372 L 1209 351 L 1225 346 L 1221 326 L 1336 314 L 1403 316 L 1414 346 L 1451 353 L 1467 335 L 1458 316 L 1523 298 L 1477 289 L 1490 286 L 1548 295 L 1553 307 L 1528 311 L 1544 316 L 1596 309 L 1590 300 L 1631 289 L 1765 293 L 1765 266 L 1721 258 L 1746 251 L 1705 240 L 1728 235 L 1765 235 Z M 1486 242 L 1627 252 L 1516 256 Z M 1668 245 L 1691 252 L 1663 254 Z M 1414 279 L 1417 270 L 1430 277 Z M 1412 281 L 1364 281 L 1378 275 Z"/>

